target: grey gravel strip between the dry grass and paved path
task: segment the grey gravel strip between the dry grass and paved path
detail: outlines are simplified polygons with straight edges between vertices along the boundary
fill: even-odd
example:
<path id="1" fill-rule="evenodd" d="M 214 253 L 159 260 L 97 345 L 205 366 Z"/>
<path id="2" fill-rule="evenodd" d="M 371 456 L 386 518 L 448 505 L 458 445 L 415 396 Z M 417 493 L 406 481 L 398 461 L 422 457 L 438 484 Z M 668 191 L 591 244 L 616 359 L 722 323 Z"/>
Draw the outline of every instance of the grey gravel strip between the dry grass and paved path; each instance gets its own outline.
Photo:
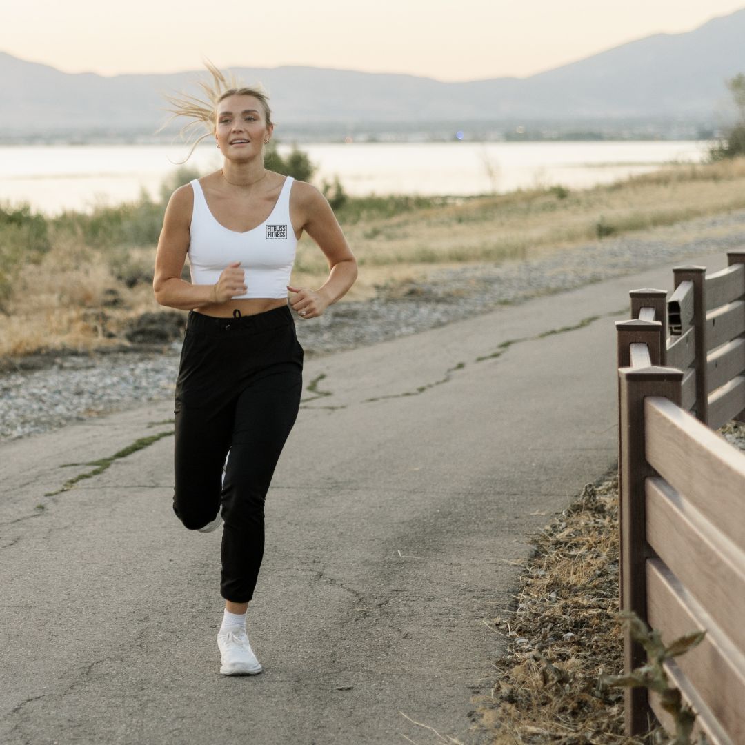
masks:
<path id="1" fill-rule="evenodd" d="M 745 210 L 643 233 L 603 238 L 539 259 L 466 264 L 434 270 L 425 282 L 378 289 L 364 302 L 340 302 L 323 317 L 298 323 L 308 358 L 369 346 L 477 316 L 500 305 L 568 291 L 651 267 L 711 253 L 721 263 L 745 246 Z M 712 261 L 712 266 L 714 265 Z M 717 264 L 718 266 L 718 264 Z M 364 270 L 364 267 L 363 267 Z M 0 440 L 51 431 L 75 420 L 173 394 L 180 343 L 157 349 L 19 361 L 0 373 Z"/>

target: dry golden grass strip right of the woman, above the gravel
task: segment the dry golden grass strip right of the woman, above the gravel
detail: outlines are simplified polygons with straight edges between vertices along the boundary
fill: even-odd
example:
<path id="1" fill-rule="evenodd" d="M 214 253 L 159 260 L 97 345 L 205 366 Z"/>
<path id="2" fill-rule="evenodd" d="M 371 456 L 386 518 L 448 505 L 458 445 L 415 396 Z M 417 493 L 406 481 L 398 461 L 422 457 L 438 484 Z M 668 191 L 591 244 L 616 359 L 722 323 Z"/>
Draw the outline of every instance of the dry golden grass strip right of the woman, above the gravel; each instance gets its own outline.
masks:
<path id="1" fill-rule="evenodd" d="M 671 166 L 611 186 L 570 191 L 516 191 L 419 209 L 346 227 L 360 262 L 358 292 L 369 296 L 396 271 L 425 279 L 442 264 L 531 259 L 595 241 L 598 234 L 644 231 L 745 208 L 745 158 Z M 298 270 L 311 284 L 326 265 L 303 238 Z"/>

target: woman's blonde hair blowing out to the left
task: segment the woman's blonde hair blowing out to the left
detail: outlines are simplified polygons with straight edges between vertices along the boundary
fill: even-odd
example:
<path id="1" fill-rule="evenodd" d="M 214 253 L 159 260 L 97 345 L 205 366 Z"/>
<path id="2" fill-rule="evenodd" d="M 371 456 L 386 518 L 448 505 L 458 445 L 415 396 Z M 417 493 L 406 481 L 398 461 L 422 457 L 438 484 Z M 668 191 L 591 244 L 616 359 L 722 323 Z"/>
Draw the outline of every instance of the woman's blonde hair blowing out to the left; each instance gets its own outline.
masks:
<path id="1" fill-rule="evenodd" d="M 194 149 L 202 142 L 206 137 L 214 136 L 216 131 L 215 115 L 217 113 L 218 104 L 223 99 L 228 98 L 231 95 L 253 95 L 254 98 L 259 99 L 261 108 L 264 110 L 264 118 L 266 119 L 267 127 L 272 124 L 272 112 L 269 107 L 269 95 L 264 89 L 261 83 L 255 83 L 253 86 L 244 86 L 235 75 L 229 73 L 225 75 L 209 60 L 205 60 L 205 66 L 212 75 L 212 81 L 206 82 L 204 80 L 197 80 L 200 88 L 204 92 L 204 98 L 198 98 L 188 93 L 181 93 L 180 95 L 168 95 L 164 94 L 163 98 L 168 101 L 170 106 L 165 109 L 171 116 L 165 121 L 165 124 L 157 130 L 161 132 L 171 124 L 171 121 L 185 116 L 191 121 L 187 121 L 183 127 L 181 127 L 179 134 L 187 144 L 191 142 L 191 138 L 195 136 L 197 130 L 206 128 L 206 132 L 201 136 L 198 136 L 194 142 L 191 142 L 191 150 L 188 151 L 184 163 L 191 157 L 191 153 L 194 153 Z"/>

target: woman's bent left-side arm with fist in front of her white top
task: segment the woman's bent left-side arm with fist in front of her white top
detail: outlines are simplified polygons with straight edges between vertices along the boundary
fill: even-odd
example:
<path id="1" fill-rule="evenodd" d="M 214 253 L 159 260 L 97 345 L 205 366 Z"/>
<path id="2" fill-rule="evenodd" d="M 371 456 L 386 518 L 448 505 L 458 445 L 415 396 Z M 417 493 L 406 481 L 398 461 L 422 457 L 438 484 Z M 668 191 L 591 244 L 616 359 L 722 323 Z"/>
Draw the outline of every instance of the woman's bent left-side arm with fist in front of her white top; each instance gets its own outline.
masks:
<path id="1" fill-rule="evenodd" d="M 193 204 L 194 190 L 188 184 L 177 188 L 171 195 L 165 208 L 153 276 L 155 299 L 160 305 L 182 311 L 226 302 L 246 291 L 244 271 L 237 268 L 240 266 L 238 261 L 223 270 L 215 285 L 192 285 L 181 279 L 191 239 L 189 222 Z"/>

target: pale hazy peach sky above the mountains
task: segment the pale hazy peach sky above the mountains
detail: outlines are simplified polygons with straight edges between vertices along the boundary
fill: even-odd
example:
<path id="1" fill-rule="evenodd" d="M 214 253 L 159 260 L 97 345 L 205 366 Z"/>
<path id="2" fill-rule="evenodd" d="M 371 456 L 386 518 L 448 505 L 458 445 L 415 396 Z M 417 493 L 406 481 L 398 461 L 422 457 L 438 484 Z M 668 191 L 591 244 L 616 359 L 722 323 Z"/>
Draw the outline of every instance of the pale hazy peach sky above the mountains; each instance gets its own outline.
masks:
<path id="1" fill-rule="evenodd" d="M 26 0 L 0 51 L 65 72 L 311 65 L 439 80 L 524 77 L 745 0 Z"/>

